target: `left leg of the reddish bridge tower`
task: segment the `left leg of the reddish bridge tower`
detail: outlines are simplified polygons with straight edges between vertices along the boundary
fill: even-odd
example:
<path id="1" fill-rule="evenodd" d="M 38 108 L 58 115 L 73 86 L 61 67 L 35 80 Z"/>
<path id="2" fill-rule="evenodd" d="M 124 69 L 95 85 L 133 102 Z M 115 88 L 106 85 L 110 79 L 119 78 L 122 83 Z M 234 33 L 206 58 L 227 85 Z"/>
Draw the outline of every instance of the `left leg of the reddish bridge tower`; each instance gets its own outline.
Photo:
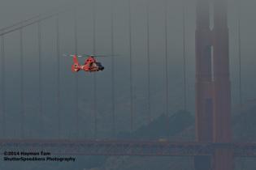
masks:
<path id="1" fill-rule="evenodd" d="M 197 0 L 196 29 L 196 140 L 212 142 L 213 83 L 209 0 Z M 196 170 L 210 170 L 210 156 L 196 156 Z"/>

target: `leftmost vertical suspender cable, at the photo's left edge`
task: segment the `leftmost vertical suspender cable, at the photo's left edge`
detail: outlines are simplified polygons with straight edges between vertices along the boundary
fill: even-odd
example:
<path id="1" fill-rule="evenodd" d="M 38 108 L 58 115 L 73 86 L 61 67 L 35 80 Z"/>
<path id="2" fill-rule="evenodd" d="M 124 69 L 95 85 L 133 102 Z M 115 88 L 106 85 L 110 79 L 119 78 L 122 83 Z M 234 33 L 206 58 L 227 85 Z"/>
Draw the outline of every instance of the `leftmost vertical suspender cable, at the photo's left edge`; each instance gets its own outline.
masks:
<path id="1" fill-rule="evenodd" d="M 5 78 L 5 47 L 4 47 L 4 36 L 2 36 L 2 48 L 1 48 L 1 53 L 2 53 L 2 138 L 6 137 L 6 78 Z"/>

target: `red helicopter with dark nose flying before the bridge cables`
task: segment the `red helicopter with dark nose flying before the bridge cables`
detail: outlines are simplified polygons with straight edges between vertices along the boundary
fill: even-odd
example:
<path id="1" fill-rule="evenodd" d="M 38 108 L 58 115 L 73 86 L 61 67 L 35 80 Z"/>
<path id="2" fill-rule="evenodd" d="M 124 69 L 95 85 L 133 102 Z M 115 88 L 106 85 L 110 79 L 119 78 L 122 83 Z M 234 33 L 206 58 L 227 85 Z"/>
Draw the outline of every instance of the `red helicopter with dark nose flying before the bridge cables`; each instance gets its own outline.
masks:
<path id="1" fill-rule="evenodd" d="M 64 56 L 67 56 L 63 54 Z M 73 57 L 73 65 L 72 65 L 72 72 L 78 72 L 80 70 L 84 70 L 86 72 L 98 72 L 104 70 L 104 66 L 102 66 L 101 62 L 98 62 L 96 60 L 96 57 L 108 57 L 104 55 L 77 55 L 77 54 L 71 54 L 70 57 Z M 80 65 L 78 62 L 78 57 L 87 57 L 85 59 L 85 63 L 83 65 Z"/>

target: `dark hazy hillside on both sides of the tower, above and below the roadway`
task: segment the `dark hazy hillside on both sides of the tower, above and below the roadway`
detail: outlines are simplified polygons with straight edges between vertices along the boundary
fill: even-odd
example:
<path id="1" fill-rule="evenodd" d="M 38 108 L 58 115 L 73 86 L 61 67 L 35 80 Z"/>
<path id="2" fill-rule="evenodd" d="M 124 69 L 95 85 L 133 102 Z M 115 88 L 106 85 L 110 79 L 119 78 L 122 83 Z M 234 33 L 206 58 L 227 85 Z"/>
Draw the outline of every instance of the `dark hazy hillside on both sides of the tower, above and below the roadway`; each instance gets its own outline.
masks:
<path id="1" fill-rule="evenodd" d="M 170 138 L 173 140 L 193 140 L 194 121 L 189 113 L 178 112 L 170 117 Z M 167 131 L 164 130 L 166 117 L 158 117 L 148 126 L 143 126 L 129 138 L 164 138 Z M 154 128 L 156 128 L 154 130 Z M 163 131 L 162 131 L 163 130 Z M 232 130 L 234 141 L 256 142 L 256 104 L 249 102 L 244 104 L 241 113 L 237 112 L 232 117 Z M 150 134 L 150 132 L 152 134 Z M 99 170 L 191 170 L 193 169 L 192 157 L 138 157 L 138 156 L 113 156 Z M 256 159 L 236 158 L 235 170 L 256 169 Z"/>

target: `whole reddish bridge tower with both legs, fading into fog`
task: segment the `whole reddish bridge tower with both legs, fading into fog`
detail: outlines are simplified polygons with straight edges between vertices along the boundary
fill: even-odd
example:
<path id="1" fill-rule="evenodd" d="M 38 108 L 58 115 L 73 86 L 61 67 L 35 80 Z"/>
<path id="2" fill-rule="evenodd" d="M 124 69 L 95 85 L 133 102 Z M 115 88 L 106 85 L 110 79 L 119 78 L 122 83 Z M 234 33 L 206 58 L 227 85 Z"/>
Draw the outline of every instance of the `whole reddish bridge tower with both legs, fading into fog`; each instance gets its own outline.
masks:
<path id="1" fill-rule="evenodd" d="M 197 0 L 196 140 L 232 142 L 228 58 L 227 0 L 212 0 L 214 28 L 210 28 L 210 0 Z M 196 170 L 232 170 L 232 151 L 196 156 Z"/>

